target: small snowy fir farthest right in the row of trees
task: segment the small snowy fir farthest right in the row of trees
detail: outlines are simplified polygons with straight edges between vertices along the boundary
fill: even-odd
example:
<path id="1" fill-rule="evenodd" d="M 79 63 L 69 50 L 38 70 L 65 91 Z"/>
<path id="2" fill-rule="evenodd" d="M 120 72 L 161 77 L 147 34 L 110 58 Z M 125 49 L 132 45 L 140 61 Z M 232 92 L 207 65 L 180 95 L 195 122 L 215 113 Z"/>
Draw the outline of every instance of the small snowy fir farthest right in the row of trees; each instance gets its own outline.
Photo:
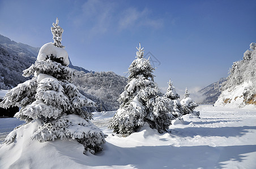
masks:
<path id="1" fill-rule="evenodd" d="M 189 97 L 189 91 L 185 90 L 185 94 L 184 94 L 184 99 L 181 100 L 181 106 L 182 106 L 182 114 L 193 114 L 196 115 L 197 117 L 199 117 L 200 113 L 199 112 L 195 112 L 194 109 L 198 106 L 197 103 L 195 103 L 195 101 L 193 101 L 190 97 Z"/>

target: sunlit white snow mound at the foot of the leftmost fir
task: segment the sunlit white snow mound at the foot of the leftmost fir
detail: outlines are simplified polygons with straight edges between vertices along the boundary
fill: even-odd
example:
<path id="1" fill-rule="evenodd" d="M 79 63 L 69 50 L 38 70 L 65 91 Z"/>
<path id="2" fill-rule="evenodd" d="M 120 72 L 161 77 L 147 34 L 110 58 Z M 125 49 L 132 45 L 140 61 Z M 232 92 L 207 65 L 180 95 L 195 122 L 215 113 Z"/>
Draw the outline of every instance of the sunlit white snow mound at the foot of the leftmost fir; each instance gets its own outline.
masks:
<path id="1" fill-rule="evenodd" d="M 12 144 L 0 145 L 0 168 L 81 168 L 74 158 L 86 157 L 84 147 L 76 140 L 55 140 L 40 143 L 30 136 L 39 129 L 39 119 L 25 124 L 15 131 Z M 14 133 L 12 133 L 14 134 Z M 72 154 L 72 158 L 67 154 Z"/>

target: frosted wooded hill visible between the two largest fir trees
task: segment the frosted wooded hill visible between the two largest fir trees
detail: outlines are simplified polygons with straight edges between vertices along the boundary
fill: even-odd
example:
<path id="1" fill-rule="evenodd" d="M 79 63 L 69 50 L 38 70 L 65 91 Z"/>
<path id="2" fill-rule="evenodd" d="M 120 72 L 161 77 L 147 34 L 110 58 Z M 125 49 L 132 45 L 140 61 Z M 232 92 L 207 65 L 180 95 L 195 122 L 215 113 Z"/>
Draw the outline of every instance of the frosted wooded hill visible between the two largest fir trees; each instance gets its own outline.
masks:
<path id="1" fill-rule="evenodd" d="M 89 111 L 117 110 L 117 99 L 126 86 L 127 79 L 114 72 L 76 72 L 74 84 L 80 92 L 98 105 Z"/>

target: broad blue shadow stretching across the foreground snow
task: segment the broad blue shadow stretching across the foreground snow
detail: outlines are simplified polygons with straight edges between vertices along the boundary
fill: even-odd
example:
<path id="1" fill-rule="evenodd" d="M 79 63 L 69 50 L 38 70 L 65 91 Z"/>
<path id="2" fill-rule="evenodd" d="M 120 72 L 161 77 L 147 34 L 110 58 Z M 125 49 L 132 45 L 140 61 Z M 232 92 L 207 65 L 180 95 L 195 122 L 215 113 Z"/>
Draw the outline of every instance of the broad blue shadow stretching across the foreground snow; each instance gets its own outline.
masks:
<path id="1" fill-rule="evenodd" d="M 247 156 L 242 154 L 256 152 L 256 145 L 216 147 L 207 145 L 174 147 L 165 145 L 121 148 L 106 143 L 102 152 L 96 155 L 80 156 L 79 158 L 71 155 L 74 154 L 72 150 L 63 151 L 65 148 L 58 145 L 56 145 L 56 149 L 72 161 L 91 167 L 224 168 L 225 164 L 223 162 L 226 161 L 244 162 Z"/>

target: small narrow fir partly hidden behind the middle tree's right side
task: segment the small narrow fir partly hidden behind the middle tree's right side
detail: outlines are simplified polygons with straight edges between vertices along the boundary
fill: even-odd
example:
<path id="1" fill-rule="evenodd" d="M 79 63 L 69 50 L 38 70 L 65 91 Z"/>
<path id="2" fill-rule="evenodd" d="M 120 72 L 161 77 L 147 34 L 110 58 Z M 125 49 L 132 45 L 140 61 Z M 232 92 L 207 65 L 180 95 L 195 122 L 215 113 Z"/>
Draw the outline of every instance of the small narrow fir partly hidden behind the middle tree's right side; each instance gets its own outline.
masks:
<path id="1" fill-rule="evenodd" d="M 170 100 L 173 100 L 173 116 L 175 118 L 182 116 L 182 106 L 178 99 L 180 99 L 180 95 L 177 94 L 175 87 L 172 84 L 172 81 L 169 80 L 167 92 L 164 95 Z"/>

